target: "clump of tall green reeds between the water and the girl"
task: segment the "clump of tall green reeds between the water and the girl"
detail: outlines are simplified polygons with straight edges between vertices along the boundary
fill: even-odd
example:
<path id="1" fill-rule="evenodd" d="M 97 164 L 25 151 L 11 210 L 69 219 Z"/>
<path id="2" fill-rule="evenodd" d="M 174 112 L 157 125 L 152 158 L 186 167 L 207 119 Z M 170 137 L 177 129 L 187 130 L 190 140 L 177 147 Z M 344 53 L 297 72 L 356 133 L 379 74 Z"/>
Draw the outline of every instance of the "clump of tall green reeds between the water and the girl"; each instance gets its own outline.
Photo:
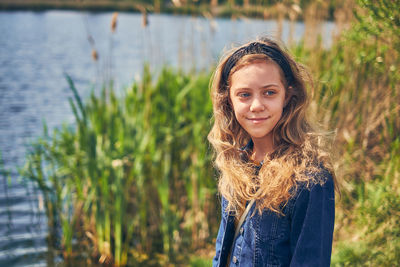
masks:
<path id="1" fill-rule="evenodd" d="M 40 140 L 24 173 L 44 192 L 50 224 L 61 225 L 64 256 L 84 246 L 117 266 L 180 262 L 209 243 L 217 227 L 209 75 L 165 68 L 153 84 L 145 68 L 121 99 L 104 89 L 86 103 L 67 79 L 76 127 Z"/>

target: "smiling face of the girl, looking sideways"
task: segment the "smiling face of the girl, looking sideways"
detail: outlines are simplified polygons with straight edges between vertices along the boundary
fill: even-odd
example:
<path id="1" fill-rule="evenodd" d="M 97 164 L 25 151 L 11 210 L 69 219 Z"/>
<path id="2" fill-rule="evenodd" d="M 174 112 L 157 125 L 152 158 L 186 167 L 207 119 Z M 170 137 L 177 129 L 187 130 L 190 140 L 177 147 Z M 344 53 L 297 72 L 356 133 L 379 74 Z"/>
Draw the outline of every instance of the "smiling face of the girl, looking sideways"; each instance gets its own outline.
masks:
<path id="1" fill-rule="evenodd" d="M 259 61 L 240 68 L 231 76 L 229 94 L 237 121 L 253 141 L 272 144 L 286 99 L 279 66 Z"/>

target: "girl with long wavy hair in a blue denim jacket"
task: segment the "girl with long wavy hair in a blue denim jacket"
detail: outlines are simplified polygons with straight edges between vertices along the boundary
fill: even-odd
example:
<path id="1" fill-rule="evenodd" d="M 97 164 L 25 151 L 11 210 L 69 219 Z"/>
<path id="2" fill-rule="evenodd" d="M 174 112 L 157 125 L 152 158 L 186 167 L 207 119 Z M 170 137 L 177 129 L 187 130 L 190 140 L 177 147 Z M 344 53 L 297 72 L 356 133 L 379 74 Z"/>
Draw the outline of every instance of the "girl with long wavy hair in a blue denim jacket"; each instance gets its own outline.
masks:
<path id="1" fill-rule="evenodd" d="M 306 118 L 305 69 L 270 39 L 228 53 L 211 85 L 208 139 L 222 218 L 213 266 L 329 266 L 328 154 Z"/>

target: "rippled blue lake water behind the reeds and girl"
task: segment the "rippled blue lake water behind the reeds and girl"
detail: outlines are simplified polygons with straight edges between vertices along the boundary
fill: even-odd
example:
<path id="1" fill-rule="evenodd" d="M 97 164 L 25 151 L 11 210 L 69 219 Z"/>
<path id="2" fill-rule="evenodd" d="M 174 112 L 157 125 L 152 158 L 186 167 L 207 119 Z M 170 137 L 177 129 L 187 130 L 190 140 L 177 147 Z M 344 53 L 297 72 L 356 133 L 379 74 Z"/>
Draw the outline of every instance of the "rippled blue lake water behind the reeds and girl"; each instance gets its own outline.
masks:
<path id="1" fill-rule="evenodd" d="M 274 36 L 277 23 L 255 19 L 210 21 L 201 17 L 120 13 L 111 33 L 112 13 L 75 11 L 0 12 L 0 152 L 10 181 L 0 176 L 0 266 L 47 266 L 46 216 L 40 194 L 22 183 L 17 166 L 26 147 L 49 129 L 73 123 L 64 75 L 87 96 L 105 79 L 122 90 L 140 74 L 145 62 L 157 72 L 163 65 L 204 70 L 224 48 L 262 35 Z M 322 40 L 329 46 L 334 30 L 326 22 Z M 294 40 L 304 24 L 296 23 Z M 282 39 L 289 38 L 289 23 Z M 88 41 L 94 40 L 94 46 Z M 99 59 L 91 58 L 95 48 Z"/>

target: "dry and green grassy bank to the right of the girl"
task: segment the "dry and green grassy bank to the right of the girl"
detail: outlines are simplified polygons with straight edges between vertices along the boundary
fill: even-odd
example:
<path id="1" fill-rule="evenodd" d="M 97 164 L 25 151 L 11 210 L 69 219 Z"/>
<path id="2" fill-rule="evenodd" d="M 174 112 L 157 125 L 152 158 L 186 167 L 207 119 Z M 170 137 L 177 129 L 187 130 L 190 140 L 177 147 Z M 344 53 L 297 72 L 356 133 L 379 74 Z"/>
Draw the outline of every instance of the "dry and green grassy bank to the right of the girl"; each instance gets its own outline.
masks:
<path id="1" fill-rule="evenodd" d="M 312 113 L 336 131 L 342 195 L 333 266 L 400 261 L 394 220 L 400 204 L 400 39 L 394 5 L 358 1 L 356 22 L 331 49 L 296 48 L 317 76 Z"/>

